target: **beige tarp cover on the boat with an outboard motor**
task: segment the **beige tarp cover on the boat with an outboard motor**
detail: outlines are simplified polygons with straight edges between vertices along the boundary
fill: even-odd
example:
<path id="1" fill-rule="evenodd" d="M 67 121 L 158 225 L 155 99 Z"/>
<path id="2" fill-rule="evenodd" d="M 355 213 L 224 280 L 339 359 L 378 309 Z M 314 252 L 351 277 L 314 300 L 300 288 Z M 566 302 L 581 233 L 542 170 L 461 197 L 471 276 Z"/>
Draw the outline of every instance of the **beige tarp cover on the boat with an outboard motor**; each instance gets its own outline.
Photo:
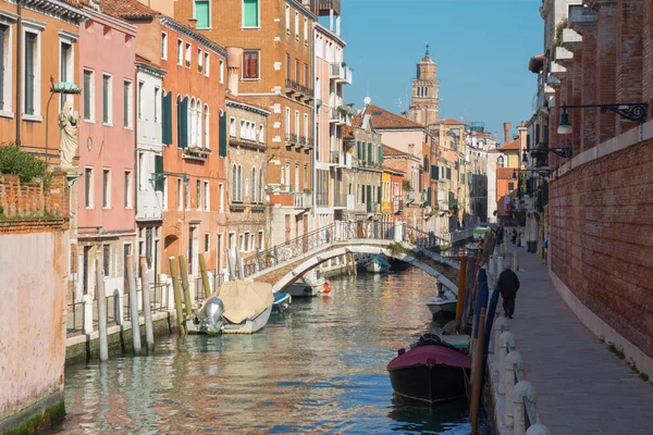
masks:
<path id="1" fill-rule="evenodd" d="M 222 315 L 231 323 L 236 324 L 256 318 L 272 307 L 274 301 L 270 284 L 238 279 L 222 284 L 213 296 L 220 298 L 224 304 Z"/>

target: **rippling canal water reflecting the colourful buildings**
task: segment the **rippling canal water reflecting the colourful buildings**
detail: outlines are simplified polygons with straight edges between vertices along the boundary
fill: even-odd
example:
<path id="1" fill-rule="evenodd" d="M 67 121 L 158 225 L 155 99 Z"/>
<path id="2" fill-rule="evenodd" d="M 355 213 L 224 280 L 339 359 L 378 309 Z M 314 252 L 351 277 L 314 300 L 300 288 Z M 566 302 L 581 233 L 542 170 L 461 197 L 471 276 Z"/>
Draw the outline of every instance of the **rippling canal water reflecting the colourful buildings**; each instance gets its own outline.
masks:
<path id="1" fill-rule="evenodd" d="M 469 434 L 465 400 L 403 402 L 385 370 L 438 327 L 434 294 L 416 269 L 334 278 L 331 296 L 293 300 L 258 334 L 159 338 L 153 356 L 69 368 L 53 433 Z"/>

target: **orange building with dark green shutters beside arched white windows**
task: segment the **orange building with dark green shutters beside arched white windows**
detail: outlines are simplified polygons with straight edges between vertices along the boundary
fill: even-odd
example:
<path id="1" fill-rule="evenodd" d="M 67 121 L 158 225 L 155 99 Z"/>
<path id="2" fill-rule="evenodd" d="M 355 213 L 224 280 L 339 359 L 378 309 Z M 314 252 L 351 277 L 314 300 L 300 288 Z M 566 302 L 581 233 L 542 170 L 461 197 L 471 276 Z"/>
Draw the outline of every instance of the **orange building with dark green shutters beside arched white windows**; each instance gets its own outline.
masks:
<path id="1" fill-rule="evenodd" d="M 138 45 L 136 54 L 165 70 L 155 100 L 161 103 L 162 172 L 139 174 L 145 183 L 163 179 L 161 257 L 185 257 L 195 277 L 202 253 L 211 273 L 219 274 L 223 252 L 217 246 L 226 229 L 226 50 L 136 0 L 108 0 L 102 8 L 133 23 L 149 41 Z M 169 270 L 167 261 L 161 265 Z"/>

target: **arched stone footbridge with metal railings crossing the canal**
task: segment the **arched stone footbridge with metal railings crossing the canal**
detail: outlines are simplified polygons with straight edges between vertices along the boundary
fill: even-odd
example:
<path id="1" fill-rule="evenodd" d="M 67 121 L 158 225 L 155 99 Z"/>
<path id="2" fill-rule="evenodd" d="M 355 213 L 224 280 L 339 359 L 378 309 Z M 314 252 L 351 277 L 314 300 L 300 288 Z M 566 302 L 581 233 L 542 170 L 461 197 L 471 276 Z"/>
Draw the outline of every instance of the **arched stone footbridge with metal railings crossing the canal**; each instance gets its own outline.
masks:
<path id="1" fill-rule="evenodd" d="M 421 269 L 456 290 L 458 262 L 441 252 L 469 238 L 471 229 L 436 237 L 403 222 L 338 221 L 236 263 L 242 277 L 272 284 L 279 291 L 333 258 L 383 253 Z"/>

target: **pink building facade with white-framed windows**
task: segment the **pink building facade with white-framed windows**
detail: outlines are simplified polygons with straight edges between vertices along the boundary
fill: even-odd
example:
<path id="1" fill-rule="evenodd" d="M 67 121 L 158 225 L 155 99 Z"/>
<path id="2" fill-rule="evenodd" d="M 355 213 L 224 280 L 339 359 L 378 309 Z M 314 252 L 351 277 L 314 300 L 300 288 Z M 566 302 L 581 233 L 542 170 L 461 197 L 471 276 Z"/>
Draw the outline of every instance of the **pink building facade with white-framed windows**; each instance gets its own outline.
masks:
<path id="1" fill-rule="evenodd" d="M 136 27 L 96 10 L 79 28 L 78 245 L 72 298 L 95 297 L 96 259 L 108 296 L 126 291 L 126 256 L 136 253 Z M 116 61 L 120 60 L 120 61 Z"/>

